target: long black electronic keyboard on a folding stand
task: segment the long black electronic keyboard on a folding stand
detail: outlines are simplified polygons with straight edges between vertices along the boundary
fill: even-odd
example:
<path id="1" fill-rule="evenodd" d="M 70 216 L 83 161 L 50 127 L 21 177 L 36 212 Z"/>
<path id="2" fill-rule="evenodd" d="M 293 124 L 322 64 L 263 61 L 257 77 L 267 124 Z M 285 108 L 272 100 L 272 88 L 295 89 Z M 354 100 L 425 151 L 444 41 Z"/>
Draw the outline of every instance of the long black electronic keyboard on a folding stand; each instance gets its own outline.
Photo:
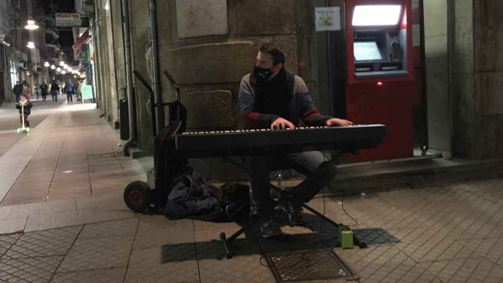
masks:
<path id="1" fill-rule="evenodd" d="M 355 151 L 377 147 L 386 137 L 382 124 L 182 132 L 177 151 L 187 158 L 268 155 L 316 150 Z"/>

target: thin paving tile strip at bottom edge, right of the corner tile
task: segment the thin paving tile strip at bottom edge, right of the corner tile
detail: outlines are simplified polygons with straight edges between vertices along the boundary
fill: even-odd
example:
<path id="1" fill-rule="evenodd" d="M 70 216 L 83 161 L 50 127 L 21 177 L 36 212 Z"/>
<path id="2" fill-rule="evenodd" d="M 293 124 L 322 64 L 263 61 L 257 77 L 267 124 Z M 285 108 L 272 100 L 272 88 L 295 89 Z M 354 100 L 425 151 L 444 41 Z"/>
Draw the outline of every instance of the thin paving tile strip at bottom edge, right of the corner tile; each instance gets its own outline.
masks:
<path id="1" fill-rule="evenodd" d="M 92 271 L 56 272 L 51 283 L 122 283 L 126 268 L 95 269 Z"/>

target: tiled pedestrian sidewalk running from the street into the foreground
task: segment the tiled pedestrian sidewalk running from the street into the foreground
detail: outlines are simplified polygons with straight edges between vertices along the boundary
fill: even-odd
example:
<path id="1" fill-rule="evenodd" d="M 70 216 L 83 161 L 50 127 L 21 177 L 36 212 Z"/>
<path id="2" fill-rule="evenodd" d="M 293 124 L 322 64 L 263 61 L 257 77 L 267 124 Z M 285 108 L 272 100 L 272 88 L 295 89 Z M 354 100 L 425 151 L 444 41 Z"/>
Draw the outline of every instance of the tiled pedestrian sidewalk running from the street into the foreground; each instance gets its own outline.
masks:
<path id="1" fill-rule="evenodd" d="M 247 231 L 227 260 L 218 237 L 236 224 L 131 213 L 122 192 L 144 179 L 141 161 L 120 156 L 89 105 L 64 103 L 0 157 L 0 281 L 275 282 L 262 254 L 303 250 L 333 250 L 365 283 L 503 280 L 501 179 L 319 197 L 309 204 L 354 224 L 346 210 L 368 248 L 337 247 L 335 228 L 305 213 L 310 229 L 284 227 L 283 241 Z M 304 259 L 281 274 L 288 281 L 325 263 Z"/>

